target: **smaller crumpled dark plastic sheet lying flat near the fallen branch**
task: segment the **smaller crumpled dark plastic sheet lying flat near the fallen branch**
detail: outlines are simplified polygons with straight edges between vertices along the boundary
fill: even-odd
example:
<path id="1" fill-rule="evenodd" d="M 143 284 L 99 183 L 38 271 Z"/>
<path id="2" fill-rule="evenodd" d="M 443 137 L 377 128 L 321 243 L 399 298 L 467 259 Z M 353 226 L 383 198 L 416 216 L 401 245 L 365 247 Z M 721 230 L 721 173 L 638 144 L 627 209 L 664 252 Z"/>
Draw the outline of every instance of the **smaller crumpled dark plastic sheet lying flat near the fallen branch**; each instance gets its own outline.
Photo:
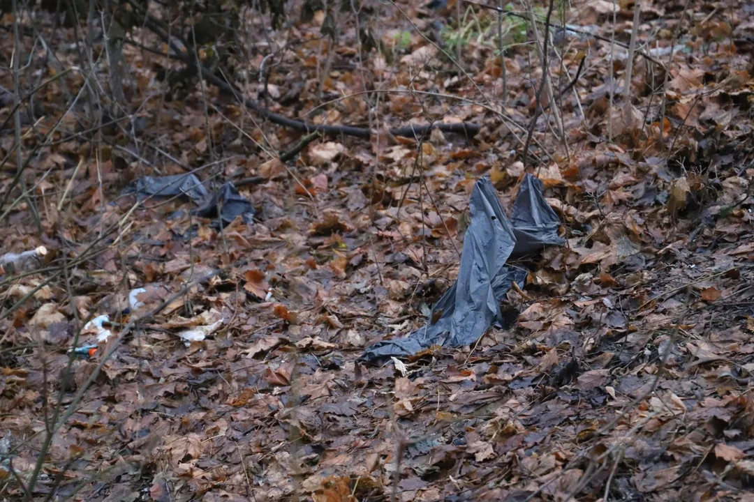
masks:
<path id="1" fill-rule="evenodd" d="M 227 181 L 217 193 L 210 193 L 201 180 L 192 173 L 173 176 L 145 176 L 133 181 L 124 193 L 136 193 L 143 199 L 148 196 L 185 196 L 199 207 L 192 214 L 202 218 L 218 218 L 222 227 L 228 226 L 238 216 L 250 222 L 254 217 L 254 206 L 244 199 L 231 181 Z M 217 208 L 220 208 L 218 215 Z M 217 226 L 217 222 L 213 225 Z"/>

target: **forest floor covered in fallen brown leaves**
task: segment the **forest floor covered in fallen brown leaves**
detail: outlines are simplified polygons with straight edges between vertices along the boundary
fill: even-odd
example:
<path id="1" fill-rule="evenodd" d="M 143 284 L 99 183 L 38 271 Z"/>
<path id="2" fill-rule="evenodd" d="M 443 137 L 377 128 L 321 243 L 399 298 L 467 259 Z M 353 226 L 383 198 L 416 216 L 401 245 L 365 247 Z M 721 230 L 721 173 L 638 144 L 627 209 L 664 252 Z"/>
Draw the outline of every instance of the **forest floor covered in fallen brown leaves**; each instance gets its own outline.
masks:
<path id="1" fill-rule="evenodd" d="M 130 26 L 121 99 L 101 23 L 20 5 L 14 42 L 2 14 L 23 99 L 17 130 L 2 71 L 0 239 L 48 255 L 2 276 L 0 497 L 752 500 L 754 8 L 644 2 L 627 83 L 633 2 L 558 4 L 551 104 L 547 4 L 536 33 L 523 4 L 503 20 L 506 95 L 494 11 L 328 5 L 302 20 L 289 2 L 278 29 L 228 11 L 234 34 L 198 45 L 233 92 Z M 150 13 L 204 33 L 176 6 Z M 372 135 L 323 135 L 283 163 L 305 132 L 241 95 Z M 461 121 L 481 129 L 389 132 Z M 185 172 L 236 181 L 253 221 L 219 231 L 186 199 L 122 194 Z M 455 280 L 474 182 L 489 175 L 508 208 L 524 172 L 567 244 L 516 263 L 515 322 L 357 363 Z M 81 328 L 99 315 L 97 345 Z M 179 336 L 197 327 L 210 334 Z"/>

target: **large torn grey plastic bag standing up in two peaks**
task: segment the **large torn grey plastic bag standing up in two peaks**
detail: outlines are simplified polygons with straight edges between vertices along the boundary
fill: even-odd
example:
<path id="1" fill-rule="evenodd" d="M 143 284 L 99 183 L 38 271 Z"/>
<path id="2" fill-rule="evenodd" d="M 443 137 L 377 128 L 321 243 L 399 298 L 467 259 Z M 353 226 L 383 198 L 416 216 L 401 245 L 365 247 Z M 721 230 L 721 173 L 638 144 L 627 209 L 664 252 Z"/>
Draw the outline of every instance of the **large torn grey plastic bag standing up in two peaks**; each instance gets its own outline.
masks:
<path id="1" fill-rule="evenodd" d="M 493 324 L 501 325 L 500 303 L 513 281 L 523 287 L 526 270 L 506 265 L 509 257 L 563 245 L 555 211 L 542 196 L 542 182 L 527 174 L 508 220 L 489 178 L 474 185 L 469 201 L 471 222 L 464 236 L 458 279 L 432 309 L 425 327 L 404 338 L 366 348 L 362 361 L 408 356 L 432 345 L 471 345 Z"/>

